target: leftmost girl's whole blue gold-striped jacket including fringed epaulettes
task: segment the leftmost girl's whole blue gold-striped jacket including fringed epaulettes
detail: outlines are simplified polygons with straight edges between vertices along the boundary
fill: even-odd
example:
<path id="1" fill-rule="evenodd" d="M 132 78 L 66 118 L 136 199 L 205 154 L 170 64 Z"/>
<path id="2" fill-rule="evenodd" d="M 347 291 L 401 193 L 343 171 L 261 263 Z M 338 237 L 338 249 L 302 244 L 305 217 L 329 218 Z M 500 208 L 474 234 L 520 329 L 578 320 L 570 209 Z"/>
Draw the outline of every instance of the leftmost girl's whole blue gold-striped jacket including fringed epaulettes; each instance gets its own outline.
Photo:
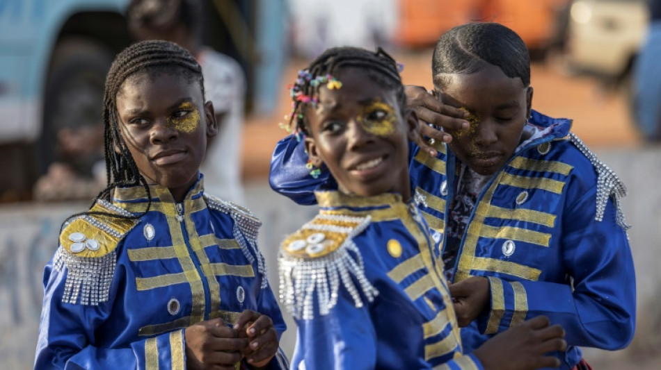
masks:
<path id="1" fill-rule="evenodd" d="M 285 331 L 257 249 L 260 221 L 207 196 L 203 180 L 182 203 L 168 189 L 116 189 L 72 219 L 44 274 L 35 369 L 186 369 L 184 328 L 249 309 Z M 271 369 L 287 369 L 282 351 Z M 240 365 L 237 364 L 237 369 Z"/>

